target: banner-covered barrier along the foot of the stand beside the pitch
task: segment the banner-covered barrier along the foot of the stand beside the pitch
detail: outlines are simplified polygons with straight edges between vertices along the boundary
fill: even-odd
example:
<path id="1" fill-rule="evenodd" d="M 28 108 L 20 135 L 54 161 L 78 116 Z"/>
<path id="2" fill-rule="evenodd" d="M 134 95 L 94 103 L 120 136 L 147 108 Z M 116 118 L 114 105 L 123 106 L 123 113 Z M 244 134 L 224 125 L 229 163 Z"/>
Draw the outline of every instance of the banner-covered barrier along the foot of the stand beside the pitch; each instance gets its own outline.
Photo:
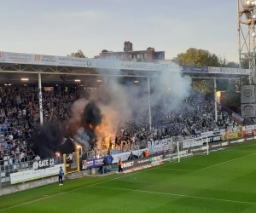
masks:
<path id="1" fill-rule="evenodd" d="M 131 152 L 111 153 L 107 156 L 93 156 L 84 160 L 82 155 L 77 153 L 65 154 L 63 157 L 47 158 L 39 161 L 28 160 L 25 162 L 13 162 L 9 164 L 9 159 L 0 162 L 1 181 L 0 187 L 10 184 L 32 181 L 47 176 L 56 176 L 62 166 L 65 175 L 79 172 L 80 170 L 95 170 L 102 167 L 105 159 L 106 164 L 117 170 L 119 158 L 123 161 L 123 170 L 131 172 L 154 166 L 165 160 L 178 161 L 183 157 L 195 154 L 209 154 L 224 147 L 253 141 L 256 139 L 256 125 L 247 127 L 230 128 L 226 130 L 216 130 L 203 133 L 194 138 L 166 138 L 159 141 L 147 141 L 145 148 L 138 148 Z M 148 153 L 146 155 L 145 153 Z"/>

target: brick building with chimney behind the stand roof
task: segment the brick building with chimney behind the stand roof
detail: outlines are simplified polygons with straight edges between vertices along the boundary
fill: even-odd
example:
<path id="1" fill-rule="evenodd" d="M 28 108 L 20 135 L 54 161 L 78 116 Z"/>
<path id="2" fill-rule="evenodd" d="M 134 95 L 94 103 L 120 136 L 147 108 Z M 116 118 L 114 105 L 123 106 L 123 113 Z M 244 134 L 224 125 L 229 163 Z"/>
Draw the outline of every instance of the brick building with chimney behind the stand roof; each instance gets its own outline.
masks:
<path id="1" fill-rule="evenodd" d="M 95 56 L 95 58 L 106 60 L 151 62 L 154 60 L 165 60 L 165 51 L 155 51 L 155 49 L 151 47 L 146 50 L 134 51 L 132 43 L 128 41 L 124 43 L 124 51 L 113 52 L 103 49 L 102 53 Z"/>

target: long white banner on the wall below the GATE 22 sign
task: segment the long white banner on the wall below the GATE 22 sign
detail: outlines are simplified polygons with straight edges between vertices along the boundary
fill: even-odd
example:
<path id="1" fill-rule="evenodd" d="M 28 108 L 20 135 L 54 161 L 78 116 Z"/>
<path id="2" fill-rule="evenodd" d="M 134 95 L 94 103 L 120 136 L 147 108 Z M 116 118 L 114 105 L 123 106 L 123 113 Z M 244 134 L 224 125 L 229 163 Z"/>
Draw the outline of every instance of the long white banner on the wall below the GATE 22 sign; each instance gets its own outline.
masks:
<path id="1" fill-rule="evenodd" d="M 60 166 L 64 168 L 64 164 L 55 164 L 52 167 L 45 168 L 44 170 L 26 170 L 10 174 L 11 184 L 32 181 L 47 176 L 57 176 L 59 174 Z"/>

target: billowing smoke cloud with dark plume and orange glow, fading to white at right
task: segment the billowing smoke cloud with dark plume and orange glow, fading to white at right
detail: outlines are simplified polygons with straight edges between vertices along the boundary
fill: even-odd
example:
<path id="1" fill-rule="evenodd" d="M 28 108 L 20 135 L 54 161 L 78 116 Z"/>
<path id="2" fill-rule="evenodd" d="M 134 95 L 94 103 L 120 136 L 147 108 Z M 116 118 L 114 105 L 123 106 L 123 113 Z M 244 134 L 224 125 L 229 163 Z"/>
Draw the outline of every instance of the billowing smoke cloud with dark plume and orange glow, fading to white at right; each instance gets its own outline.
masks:
<path id="1" fill-rule="evenodd" d="M 158 72 L 150 78 L 150 107 L 176 109 L 189 96 L 190 84 L 191 79 L 179 70 Z M 72 112 L 69 135 L 85 148 L 96 143 L 99 131 L 114 135 L 120 121 L 135 118 L 148 124 L 148 78 L 102 78 L 102 87 L 74 102 Z"/>

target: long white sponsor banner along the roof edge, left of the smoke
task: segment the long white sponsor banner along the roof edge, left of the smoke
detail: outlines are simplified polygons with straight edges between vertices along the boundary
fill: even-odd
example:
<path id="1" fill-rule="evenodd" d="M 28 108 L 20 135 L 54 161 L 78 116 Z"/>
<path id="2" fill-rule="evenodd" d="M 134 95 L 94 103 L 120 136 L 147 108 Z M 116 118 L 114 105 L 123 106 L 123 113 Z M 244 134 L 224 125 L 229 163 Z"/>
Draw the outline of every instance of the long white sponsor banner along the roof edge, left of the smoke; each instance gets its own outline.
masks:
<path id="1" fill-rule="evenodd" d="M 33 55 L 22 53 L 0 52 L 0 63 L 30 64 L 45 66 L 77 66 L 102 69 L 125 69 L 161 71 L 161 64 L 133 62 L 123 60 L 99 60 L 88 58 L 74 58 L 56 55 Z"/>

